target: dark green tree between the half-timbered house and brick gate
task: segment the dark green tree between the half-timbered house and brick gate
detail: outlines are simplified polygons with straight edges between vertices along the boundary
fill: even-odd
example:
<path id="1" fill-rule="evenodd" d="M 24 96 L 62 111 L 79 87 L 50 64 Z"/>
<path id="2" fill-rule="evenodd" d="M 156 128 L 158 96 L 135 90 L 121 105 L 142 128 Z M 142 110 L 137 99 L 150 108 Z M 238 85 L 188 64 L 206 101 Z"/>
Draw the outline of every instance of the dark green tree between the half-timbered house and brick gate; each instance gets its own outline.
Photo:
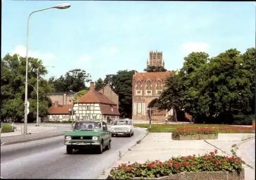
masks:
<path id="1" fill-rule="evenodd" d="M 106 75 L 104 79 L 104 84 L 109 85 L 118 94 L 119 111 L 124 117 L 132 117 L 133 74 L 136 72 L 136 70 L 119 70 L 116 74 Z"/>

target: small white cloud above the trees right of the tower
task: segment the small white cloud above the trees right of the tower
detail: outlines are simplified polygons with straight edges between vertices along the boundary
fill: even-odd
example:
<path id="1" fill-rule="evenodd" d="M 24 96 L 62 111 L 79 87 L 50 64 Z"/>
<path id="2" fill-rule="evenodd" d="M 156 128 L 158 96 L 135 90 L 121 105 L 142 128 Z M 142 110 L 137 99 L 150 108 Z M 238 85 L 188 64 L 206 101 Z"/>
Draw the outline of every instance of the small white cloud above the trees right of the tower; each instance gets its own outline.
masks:
<path id="1" fill-rule="evenodd" d="M 192 52 L 207 52 L 210 45 L 205 42 L 185 42 L 182 44 L 181 49 L 189 54 Z"/>

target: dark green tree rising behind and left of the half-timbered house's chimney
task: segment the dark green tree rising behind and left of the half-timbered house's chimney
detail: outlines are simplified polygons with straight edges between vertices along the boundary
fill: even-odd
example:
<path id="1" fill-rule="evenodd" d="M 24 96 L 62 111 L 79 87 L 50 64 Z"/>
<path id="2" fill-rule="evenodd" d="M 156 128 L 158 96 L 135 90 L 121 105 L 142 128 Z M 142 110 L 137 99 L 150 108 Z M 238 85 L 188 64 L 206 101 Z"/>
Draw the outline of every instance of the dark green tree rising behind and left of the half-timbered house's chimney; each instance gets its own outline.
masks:
<path id="1" fill-rule="evenodd" d="M 54 85 L 56 92 L 66 92 L 69 90 L 78 92 L 88 89 L 86 83 L 91 81 L 91 75 L 81 69 L 68 71 L 65 76 L 61 75 L 58 79 L 51 77 L 49 83 Z"/>

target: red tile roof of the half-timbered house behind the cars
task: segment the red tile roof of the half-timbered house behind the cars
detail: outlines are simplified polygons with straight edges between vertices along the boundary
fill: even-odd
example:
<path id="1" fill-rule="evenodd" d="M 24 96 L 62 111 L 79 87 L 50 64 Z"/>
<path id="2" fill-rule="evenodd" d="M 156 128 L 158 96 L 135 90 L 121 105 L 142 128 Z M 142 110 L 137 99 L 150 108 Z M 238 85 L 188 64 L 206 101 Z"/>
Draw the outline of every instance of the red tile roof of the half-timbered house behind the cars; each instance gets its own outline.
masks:
<path id="1" fill-rule="evenodd" d="M 79 103 L 80 102 L 81 103 L 103 103 L 108 105 L 116 105 L 115 102 L 110 100 L 108 97 L 104 96 L 101 92 L 98 92 L 95 90 L 90 90 L 88 93 L 78 98 L 78 102 Z"/>

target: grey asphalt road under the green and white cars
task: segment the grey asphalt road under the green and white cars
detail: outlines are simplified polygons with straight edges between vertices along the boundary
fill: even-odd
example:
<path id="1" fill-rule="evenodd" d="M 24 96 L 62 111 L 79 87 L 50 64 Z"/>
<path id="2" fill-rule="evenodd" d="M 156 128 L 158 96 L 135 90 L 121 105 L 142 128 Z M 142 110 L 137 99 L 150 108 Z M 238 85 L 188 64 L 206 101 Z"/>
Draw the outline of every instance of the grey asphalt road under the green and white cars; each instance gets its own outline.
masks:
<path id="1" fill-rule="evenodd" d="M 135 128 L 131 138 L 114 137 L 111 149 L 101 155 L 92 151 L 67 155 L 63 136 L 2 146 L 1 177 L 95 179 L 119 158 L 119 151 L 124 153 L 144 135 L 144 130 Z"/>

